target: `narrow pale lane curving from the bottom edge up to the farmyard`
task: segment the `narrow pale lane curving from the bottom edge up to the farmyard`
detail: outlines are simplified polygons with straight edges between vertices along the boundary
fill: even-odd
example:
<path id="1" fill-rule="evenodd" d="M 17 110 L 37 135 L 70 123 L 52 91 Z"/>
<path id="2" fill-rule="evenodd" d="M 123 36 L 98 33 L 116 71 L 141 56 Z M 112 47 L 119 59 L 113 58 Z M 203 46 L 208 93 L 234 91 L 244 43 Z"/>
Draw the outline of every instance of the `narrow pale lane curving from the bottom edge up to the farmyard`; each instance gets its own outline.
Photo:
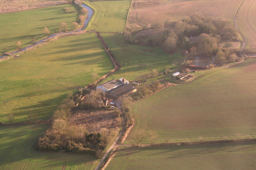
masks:
<path id="1" fill-rule="evenodd" d="M 106 159 L 106 157 L 108 156 L 108 153 L 114 148 L 114 146 L 116 145 L 117 141 L 119 140 L 119 138 L 121 137 L 121 135 L 124 132 L 124 128 L 125 128 L 125 124 L 126 124 L 126 119 L 125 119 L 125 115 L 124 115 L 124 113 L 123 113 L 123 111 L 121 109 L 121 102 L 117 101 L 116 102 L 116 106 L 120 110 L 120 112 L 122 113 L 122 119 L 123 119 L 122 130 L 119 132 L 119 135 L 116 137 L 115 142 L 108 148 L 108 151 L 105 153 L 103 158 L 100 160 L 100 163 L 98 164 L 98 166 L 96 166 L 96 168 L 94 170 L 98 170 L 100 168 L 102 162 Z"/>

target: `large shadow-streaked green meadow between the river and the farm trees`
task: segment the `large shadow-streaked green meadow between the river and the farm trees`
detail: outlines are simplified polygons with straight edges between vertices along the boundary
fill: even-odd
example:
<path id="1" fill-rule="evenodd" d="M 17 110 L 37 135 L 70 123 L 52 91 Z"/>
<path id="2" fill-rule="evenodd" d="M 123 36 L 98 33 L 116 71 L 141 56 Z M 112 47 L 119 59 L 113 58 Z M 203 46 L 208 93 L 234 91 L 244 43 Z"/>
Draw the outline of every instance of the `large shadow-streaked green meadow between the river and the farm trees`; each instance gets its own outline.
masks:
<path id="1" fill-rule="evenodd" d="M 50 118 L 68 91 L 77 91 L 114 68 L 94 33 L 51 42 L 0 62 L 0 122 Z"/>

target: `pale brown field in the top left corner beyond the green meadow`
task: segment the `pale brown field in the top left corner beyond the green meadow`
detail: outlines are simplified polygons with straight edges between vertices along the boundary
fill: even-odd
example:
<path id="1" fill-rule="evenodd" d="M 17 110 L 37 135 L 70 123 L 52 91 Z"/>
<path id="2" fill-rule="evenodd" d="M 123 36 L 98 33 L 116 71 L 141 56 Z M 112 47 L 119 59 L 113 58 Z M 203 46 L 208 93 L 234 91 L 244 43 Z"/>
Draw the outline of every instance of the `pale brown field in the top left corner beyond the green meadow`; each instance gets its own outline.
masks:
<path id="1" fill-rule="evenodd" d="M 67 4 L 66 0 L 1 0 L 0 14 Z"/>

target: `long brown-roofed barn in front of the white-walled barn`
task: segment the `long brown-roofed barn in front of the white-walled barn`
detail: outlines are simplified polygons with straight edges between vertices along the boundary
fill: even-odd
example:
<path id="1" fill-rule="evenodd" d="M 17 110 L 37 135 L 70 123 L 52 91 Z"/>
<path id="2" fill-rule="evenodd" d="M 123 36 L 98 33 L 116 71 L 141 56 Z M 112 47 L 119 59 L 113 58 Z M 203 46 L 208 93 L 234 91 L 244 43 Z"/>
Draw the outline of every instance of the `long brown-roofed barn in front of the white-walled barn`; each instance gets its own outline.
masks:
<path id="1" fill-rule="evenodd" d="M 131 94 L 135 91 L 137 91 L 137 89 L 134 86 L 132 86 L 132 84 L 124 84 L 118 88 L 109 90 L 107 92 L 107 95 L 114 98 L 118 98 L 120 96 L 123 96 L 124 94 Z"/>

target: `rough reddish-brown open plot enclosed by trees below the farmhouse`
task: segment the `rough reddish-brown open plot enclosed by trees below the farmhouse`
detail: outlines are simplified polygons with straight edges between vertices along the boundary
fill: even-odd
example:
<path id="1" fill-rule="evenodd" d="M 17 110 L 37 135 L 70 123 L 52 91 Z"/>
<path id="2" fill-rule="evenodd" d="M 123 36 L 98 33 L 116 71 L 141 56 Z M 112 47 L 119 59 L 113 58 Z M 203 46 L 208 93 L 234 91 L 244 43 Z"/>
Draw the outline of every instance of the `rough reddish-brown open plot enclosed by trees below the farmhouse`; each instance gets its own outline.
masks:
<path id="1" fill-rule="evenodd" d="M 109 131 L 119 129 L 122 121 L 116 118 L 113 110 L 76 110 L 69 119 L 70 124 L 84 124 L 89 132 L 106 128 Z M 117 127 L 117 128 L 116 128 Z"/>

